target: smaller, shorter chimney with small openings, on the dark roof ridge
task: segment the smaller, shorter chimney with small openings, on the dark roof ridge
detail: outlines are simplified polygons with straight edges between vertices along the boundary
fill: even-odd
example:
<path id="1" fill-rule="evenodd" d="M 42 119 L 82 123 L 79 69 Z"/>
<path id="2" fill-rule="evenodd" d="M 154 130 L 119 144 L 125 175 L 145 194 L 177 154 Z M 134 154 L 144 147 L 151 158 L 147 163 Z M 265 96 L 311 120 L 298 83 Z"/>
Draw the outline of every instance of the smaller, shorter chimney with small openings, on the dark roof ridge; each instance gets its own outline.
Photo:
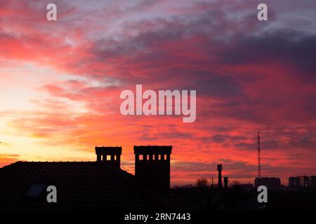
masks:
<path id="1" fill-rule="evenodd" d="M 105 162 L 113 167 L 120 168 L 121 146 L 96 147 L 97 162 Z"/>

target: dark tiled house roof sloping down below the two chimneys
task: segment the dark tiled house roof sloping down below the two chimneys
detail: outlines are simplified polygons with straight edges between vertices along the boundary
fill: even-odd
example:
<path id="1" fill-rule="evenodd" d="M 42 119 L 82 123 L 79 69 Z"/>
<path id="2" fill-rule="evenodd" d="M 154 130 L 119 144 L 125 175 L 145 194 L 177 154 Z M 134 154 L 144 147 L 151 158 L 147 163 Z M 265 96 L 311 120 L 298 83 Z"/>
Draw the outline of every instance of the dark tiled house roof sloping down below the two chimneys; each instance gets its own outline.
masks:
<path id="1" fill-rule="evenodd" d="M 50 185 L 57 203 L 46 201 Z M 103 162 L 15 162 L 0 169 L 0 210 L 162 209 L 162 198 Z"/>

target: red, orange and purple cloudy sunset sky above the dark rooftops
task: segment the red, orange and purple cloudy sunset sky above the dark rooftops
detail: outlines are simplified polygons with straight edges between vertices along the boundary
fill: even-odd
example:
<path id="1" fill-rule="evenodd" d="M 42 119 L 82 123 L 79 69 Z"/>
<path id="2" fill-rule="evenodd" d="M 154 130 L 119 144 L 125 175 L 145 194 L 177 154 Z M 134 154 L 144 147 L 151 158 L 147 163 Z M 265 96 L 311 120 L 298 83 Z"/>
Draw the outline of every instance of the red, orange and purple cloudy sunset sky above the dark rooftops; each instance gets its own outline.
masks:
<path id="1" fill-rule="evenodd" d="M 171 185 L 316 174 L 316 1 L 0 1 L 0 167 L 172 145 Z M 58 20 L 46 20 L 55 3 Z M 197 90 L 197 120 L 122 116 L 119 95 Z"/>

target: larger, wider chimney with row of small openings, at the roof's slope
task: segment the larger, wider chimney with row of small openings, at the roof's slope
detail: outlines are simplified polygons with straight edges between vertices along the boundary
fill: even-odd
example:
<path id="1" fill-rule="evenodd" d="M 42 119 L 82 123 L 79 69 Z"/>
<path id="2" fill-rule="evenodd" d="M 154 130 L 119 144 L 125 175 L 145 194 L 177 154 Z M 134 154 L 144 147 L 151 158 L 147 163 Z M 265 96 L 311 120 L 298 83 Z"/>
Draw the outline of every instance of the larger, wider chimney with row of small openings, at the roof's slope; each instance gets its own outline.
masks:
<path id="1" fill-rule="evenodd" d="M 171 151 L 172 146 L 134 146 L 136 179 L 168 194 Z"/>

